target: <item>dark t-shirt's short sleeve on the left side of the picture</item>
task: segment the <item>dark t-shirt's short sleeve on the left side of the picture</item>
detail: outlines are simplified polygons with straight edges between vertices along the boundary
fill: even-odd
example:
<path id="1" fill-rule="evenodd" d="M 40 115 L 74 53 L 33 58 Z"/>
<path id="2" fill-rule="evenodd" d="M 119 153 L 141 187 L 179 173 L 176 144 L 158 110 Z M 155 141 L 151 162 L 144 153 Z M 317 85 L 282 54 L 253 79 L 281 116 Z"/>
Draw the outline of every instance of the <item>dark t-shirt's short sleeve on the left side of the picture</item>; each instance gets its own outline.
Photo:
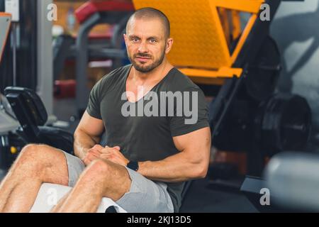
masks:
<path id="1" fill-rule="evenodd" d="M 96 83 L 90 92 L 89 104 L 86 108 L 86 112 L 94 117 L 102 119 L 100 109 L 100 93 L 101 93 L 101 81 Z"/>

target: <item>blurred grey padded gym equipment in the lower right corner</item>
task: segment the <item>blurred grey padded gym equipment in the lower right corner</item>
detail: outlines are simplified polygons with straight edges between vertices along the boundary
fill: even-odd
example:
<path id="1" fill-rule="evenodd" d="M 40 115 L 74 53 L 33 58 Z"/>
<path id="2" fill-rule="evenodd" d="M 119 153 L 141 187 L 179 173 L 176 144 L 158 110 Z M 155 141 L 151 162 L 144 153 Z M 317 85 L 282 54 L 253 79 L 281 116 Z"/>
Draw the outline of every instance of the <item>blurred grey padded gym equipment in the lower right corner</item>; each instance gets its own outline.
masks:
<path id="1" fill-rule="evenodd" d="M 276 154 L 262 177 L 245 178 L 240 192 L 260 212 L 318 212 L 318 161 L 315 153 Z"/>

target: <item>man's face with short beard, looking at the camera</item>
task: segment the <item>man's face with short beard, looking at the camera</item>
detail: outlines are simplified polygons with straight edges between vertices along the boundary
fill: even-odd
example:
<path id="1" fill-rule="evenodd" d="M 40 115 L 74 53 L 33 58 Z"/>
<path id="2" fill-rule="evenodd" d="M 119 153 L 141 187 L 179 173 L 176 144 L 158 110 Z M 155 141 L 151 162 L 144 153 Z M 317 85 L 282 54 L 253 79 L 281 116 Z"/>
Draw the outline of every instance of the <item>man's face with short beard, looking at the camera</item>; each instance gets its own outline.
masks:
<path id="1" fill-rule="evenodd" d="M 164 27 L 158 19 L 135 19 L 124 35 L 128 58 L 136 70 L 150 72 L 162 64 L 167 50 Z"/>

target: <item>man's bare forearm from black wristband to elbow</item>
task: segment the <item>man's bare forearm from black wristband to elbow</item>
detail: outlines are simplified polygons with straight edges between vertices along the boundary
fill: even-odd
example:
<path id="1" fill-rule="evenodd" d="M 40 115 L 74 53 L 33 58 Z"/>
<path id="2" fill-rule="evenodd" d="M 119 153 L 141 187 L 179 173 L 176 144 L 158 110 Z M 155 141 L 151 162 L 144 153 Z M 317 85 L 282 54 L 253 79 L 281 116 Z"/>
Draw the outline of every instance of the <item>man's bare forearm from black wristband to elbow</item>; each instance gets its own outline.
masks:
<path id="1" fill-rule="evenodd" d="M 206 176 L 208 160 L 178 153 L 157 162 L 139 162 L 138 172 L 148 179 L 162 182 L 183 182 Z"/>

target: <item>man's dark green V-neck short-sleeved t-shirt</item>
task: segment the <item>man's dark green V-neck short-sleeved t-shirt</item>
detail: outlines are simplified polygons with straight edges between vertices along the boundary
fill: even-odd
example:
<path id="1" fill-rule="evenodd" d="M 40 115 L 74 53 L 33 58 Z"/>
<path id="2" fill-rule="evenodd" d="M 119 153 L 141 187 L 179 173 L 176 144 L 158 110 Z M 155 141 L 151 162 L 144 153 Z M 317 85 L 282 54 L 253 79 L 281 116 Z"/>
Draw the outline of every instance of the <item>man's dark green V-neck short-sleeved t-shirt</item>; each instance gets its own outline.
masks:
<path id="1" fill-rule="evenodd" d="M 125 94 L 131 67 L 126 65 L 104 76 L 92 89 L 86 111 L 103 120 L 107 145 L 120 146 L 128 160 L 157 161 L 179 153 L 174 136 L 209 126 L 203 92 L 173 68 L 142 99 L 131 103 Z M 181 206 L 183 187 L 184 182 L 167 183 L 175 212 Z"/>

